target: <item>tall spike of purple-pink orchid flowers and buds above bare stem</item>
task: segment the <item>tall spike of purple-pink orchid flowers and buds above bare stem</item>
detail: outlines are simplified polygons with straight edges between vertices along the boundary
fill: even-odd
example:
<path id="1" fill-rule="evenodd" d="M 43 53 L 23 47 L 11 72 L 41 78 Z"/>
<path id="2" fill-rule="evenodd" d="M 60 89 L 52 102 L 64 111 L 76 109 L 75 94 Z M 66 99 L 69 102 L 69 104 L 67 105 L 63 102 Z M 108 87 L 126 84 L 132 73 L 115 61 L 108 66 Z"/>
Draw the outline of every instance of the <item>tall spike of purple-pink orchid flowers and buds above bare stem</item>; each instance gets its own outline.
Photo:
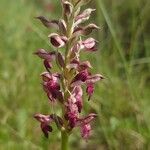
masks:
<path id="1" fill-rule="evenodd" d="M 63 17 L 60 20 L 47 20 L 37 17 L 47 28 L 55 28 L 48 38 L 55 48 L 54 51 L 39 49 L 35 54 L 43 60 L 46 71 L 41 74 L 42 86 L 50 102 L 57 103 L 62 109 L 62 116 L 57 114 L 35 114 L 46 137 L 52 132 L 52 123 L 56 123 L 60 131 L 70 134 L 76 127 L 81 129 L 81 136 L 88 139 L 91 121 L 96 114 L 86 117 L 80 114 L 83 108 L 83 86 L 86 86 L 88 100 L 94 93 L 94 84 L 103 79 L 100 74 L 92 75 L 89 61 L 81 61 L 81 52 L 95 52 L 98 42 L 86 36 L 99 29 L 95 24 L 83 26 L 95 9 L 88 8 L 81 12 L 81 7 L 90 0 L 61 0 Z M 53 73 L 53 62 L 58 72 Z"/>

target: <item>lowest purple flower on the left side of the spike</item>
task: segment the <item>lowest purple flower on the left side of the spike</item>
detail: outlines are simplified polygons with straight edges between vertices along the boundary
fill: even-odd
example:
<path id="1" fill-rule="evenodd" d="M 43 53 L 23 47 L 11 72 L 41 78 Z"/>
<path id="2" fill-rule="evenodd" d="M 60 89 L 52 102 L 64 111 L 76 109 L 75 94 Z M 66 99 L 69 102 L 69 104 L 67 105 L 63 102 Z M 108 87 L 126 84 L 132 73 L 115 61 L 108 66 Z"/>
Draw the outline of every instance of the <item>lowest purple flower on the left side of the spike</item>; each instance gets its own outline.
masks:
<path id="1" fill-rule="evenodd" d="M 37 119 L 41 123 L 41 129 L 45 137 L 48 138 L 48 133 L 52 132 L 52 127 L 49 125 L 53 122 L 53 119 L 51 118 L 51 116 L 36 114 L 34 118 Z"/>

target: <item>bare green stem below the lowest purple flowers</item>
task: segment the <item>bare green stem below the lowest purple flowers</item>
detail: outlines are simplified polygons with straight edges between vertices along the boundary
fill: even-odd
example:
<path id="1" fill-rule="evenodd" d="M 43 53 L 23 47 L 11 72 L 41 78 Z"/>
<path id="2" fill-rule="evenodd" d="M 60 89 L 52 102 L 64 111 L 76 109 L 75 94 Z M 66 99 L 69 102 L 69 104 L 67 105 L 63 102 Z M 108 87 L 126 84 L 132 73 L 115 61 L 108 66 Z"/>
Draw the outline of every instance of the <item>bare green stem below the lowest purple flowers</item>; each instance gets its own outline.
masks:
<path id="1" fill-rule="evenodd" d="M 68 150 L 69 135 L 66 131 L 61 131 L 61 150 Z"/>

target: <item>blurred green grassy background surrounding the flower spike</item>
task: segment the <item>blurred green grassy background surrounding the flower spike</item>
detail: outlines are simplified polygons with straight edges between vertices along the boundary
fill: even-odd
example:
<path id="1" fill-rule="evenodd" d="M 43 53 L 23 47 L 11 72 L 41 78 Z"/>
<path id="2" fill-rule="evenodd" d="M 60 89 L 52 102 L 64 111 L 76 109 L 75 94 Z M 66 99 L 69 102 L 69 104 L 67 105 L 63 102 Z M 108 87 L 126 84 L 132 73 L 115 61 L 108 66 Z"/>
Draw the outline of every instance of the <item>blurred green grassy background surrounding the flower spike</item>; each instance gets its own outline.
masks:
<path id="1" fill-rule="evenodd" d="M 150 1 L 95 0 L 91 21 L 101 27 L 93 34 L 99 51 L 86 53 L 106 79 L 96 85 L 85 111 L 95 111 L 93 134 L 86 143 L 75 132 L 71 150 L 150 149 Z M 50 30 L 35 16 L 60 18 L 60 0 L 0 0 L 0 149 L 59 150 L 60 134 L 54 129 L 43 137 L 34 113 L 51 113 L 40 85 L 44 70 L 33 55 L 38 48 L 51 50 Z M 54 127 L 55 128 L 55 127 Z"/>

